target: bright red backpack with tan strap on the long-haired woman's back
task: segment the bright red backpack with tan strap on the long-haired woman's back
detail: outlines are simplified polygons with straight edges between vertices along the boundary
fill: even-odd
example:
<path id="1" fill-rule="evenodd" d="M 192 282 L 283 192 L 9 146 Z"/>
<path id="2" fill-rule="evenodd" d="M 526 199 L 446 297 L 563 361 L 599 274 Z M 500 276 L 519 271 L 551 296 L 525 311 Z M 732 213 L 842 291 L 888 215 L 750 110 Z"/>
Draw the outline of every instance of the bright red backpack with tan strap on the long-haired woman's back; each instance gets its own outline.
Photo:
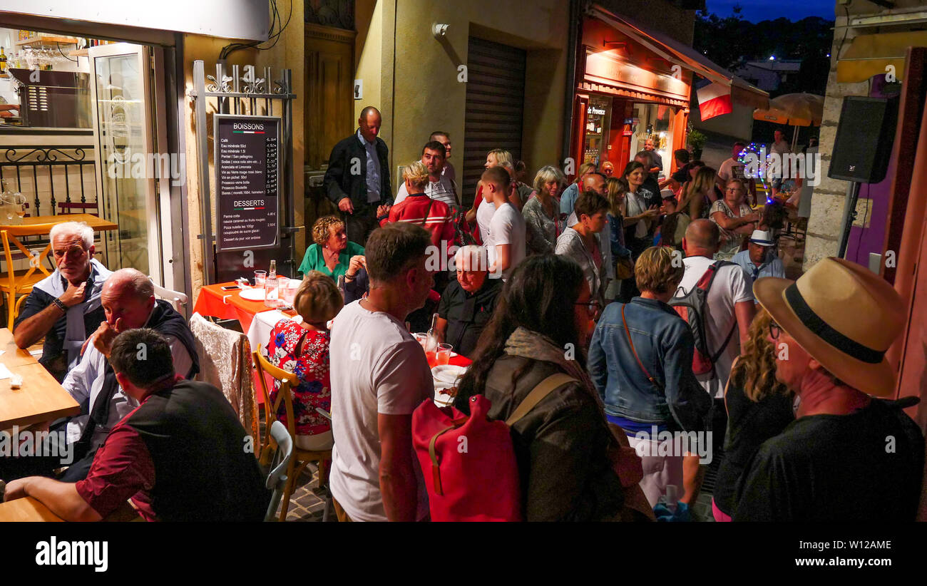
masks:
<path id="1" fill-rule="evenodd" d="M 576 382 L 548 376 L 503 421 L 487 418 L 492 403 L 470 398 L 470 415 L 428 399 L 412 415 L 432 521 L 521 521 L 521 484 L 510 427 L 553 390 Z"/>

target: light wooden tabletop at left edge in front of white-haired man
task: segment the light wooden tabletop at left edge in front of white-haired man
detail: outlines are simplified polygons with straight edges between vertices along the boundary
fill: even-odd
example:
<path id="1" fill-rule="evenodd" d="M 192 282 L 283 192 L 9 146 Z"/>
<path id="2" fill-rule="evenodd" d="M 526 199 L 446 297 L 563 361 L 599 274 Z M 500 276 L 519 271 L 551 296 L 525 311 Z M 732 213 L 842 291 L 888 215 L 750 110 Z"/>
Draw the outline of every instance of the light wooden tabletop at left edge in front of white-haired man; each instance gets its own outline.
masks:
<path id="1" fill-rule="evenodd" d="M 0 339 L 4 338 L 12 338 L 6 328 L 0 330 Z M 42 364 L 32 356 L 29 361 L 19 352 L 5 350 L 0 355 L 0 363 L 6 364 L 14 375 L 22 376 L 22 386 L 10 389 L 9 380 L 0 379 L 0 429 L 25 427 L 81 413 L 81 406 Z"/>

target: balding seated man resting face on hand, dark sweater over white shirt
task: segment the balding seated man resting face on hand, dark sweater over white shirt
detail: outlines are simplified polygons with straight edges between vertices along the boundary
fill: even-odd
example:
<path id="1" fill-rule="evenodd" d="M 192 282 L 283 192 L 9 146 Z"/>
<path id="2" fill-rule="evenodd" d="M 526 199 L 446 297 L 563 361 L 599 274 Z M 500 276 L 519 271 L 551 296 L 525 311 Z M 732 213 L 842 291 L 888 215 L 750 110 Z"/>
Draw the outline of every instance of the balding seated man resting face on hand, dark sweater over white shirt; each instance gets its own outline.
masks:
<path id="1" fill-rule="evenodd" d="M 199 372 L 197 345 L 190 326 L 171 303 L 155 299 L 154 288 L 144 273 L 121 269 L 109 275 L 100 299 L 106 320 L 87 339 L 81 362 L 62 383 L 82 405 L 82 413 L 68 422 L 68 442 L 74 444 L 76 462 L 61 477 L 67 482 L 87 475 L 109 430 L 138 406 L 122 391 L 108 362 L 117 335 L 139 327 L 151 328 L 167 338 L 178 375 L 193 378 Z"/>

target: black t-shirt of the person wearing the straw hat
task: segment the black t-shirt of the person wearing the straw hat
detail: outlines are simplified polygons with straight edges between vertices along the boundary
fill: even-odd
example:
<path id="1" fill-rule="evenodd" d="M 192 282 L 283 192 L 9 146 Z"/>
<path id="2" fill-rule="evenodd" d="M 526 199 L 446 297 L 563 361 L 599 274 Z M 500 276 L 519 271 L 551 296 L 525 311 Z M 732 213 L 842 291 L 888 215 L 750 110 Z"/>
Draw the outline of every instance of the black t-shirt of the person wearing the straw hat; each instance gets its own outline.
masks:
<path id="1" fill-rule="evenodd" d="M 921 428 L 884 401 L 848 415 L 806 415 L 756 452 L 733 520 L 913 521 L 923 451 Z"/>

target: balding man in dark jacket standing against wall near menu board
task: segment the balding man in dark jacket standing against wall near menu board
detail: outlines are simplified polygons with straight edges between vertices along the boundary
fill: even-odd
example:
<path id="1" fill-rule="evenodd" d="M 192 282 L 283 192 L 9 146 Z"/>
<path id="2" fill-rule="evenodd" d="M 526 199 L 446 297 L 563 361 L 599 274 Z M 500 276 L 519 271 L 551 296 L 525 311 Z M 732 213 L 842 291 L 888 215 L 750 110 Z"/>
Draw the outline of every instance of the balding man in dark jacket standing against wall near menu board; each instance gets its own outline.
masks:
<path id="1" fill-rule="evenodd" d="M 393 203 L 389 150 L 380 132 L 380 111 L 363 108 L 357 133 L 340 141 L 328 158 L 325 194 L 341 210 L 348 239 L 363 246 Z"/>

